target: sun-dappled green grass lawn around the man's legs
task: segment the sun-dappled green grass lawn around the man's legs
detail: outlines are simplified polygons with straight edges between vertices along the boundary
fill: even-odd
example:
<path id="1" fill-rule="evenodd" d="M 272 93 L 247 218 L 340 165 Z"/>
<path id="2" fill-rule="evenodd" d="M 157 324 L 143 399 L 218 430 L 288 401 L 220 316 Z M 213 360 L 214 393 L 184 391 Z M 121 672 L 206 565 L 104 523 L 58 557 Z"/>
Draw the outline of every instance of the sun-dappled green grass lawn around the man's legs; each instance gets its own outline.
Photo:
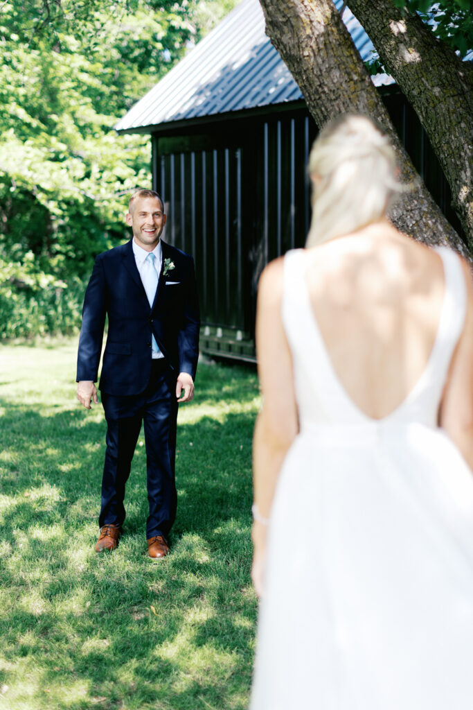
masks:
<path id="1" fill-rule="evenodd" d="M 201 364 L 179 410 L 172 554 L 148 558 L 140 436 L 118 550 L 94 543 L 105 422 L 74 341 L 0 346 L 0 709 L 245 709 L 253 371 Z"/>

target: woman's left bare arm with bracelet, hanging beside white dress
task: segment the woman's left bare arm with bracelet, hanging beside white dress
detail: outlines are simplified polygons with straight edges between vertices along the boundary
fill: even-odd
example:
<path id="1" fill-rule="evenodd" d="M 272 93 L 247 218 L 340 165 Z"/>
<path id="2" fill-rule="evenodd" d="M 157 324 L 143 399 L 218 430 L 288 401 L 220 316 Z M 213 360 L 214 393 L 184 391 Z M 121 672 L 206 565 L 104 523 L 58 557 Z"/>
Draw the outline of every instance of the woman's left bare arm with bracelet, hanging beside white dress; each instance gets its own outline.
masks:
<path id="1" fill-rule="evenodd" d="M 289 344 L 282 324 L 283 260 L 273 261 L 260 278 L 256 315 L 256 350 L 263 404 L 253 437 L 253 486 L 256 504 L 252 527 L 252 580 L 262 594 L 266 525 L 279 469 L 299 430 Z"/>

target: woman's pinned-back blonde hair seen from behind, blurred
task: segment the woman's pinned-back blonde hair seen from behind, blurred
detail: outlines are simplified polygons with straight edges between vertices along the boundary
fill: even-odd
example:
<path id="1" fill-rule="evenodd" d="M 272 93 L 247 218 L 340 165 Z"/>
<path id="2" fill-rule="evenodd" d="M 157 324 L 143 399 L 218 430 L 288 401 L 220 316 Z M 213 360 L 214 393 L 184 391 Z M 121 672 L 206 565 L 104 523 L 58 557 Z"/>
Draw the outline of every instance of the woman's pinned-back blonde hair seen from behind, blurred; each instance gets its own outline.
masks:
<path id="1" fill-rule="evenodd" d="M 308 160 L 313 181 L 306 246 L 384 217 L 402 191 L 389 139 L 365 116 L 340 116 L 319 133 Z"/>

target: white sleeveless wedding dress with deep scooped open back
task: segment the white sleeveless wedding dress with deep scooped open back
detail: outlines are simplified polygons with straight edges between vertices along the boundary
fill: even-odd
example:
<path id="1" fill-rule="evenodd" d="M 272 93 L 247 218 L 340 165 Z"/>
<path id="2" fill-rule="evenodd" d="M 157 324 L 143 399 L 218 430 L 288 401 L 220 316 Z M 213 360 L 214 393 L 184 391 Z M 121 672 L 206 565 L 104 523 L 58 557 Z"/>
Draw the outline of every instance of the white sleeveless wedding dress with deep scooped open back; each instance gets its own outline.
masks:
<path id="1" fill-rule="evenodd" d="M 285 257 L 301 431 L 272 506 L 251 710 L 473 709 L 473 476 L 437 427 L 466 289 L 457 256 L 438 253 L 435 345 L 382 420 L 335 374 L 306 253 Z"/>

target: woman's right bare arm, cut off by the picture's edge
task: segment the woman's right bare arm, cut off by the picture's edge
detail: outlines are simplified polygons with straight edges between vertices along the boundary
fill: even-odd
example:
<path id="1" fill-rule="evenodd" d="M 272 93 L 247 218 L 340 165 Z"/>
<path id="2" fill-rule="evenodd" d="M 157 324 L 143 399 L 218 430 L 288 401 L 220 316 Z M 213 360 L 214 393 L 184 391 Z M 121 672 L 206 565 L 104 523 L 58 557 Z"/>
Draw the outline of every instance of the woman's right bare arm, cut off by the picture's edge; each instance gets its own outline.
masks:
<path id="1" fill-rule="evenodd" d="M 440 425 L 457 444 L 473 471 L 473 282 L 464 263 L 467 280 L 467 318 L 450 365 L 443 393 Z"/>

